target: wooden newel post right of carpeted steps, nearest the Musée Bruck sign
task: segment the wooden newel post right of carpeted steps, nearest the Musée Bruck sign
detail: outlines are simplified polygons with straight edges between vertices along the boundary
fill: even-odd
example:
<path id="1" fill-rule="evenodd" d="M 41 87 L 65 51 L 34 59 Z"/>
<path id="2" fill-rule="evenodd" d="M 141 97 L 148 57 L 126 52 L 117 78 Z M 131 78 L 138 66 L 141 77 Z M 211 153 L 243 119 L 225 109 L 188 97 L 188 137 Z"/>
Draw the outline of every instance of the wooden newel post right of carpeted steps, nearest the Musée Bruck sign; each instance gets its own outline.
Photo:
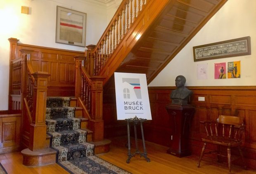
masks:
<path id="1" fill-rule="evenodd" d="M 104 136 L 103 108 L 103 77 L 92 77 L 92 110 L 89 129 L 92 130 L 92 141 L 99 142 Z"/>

